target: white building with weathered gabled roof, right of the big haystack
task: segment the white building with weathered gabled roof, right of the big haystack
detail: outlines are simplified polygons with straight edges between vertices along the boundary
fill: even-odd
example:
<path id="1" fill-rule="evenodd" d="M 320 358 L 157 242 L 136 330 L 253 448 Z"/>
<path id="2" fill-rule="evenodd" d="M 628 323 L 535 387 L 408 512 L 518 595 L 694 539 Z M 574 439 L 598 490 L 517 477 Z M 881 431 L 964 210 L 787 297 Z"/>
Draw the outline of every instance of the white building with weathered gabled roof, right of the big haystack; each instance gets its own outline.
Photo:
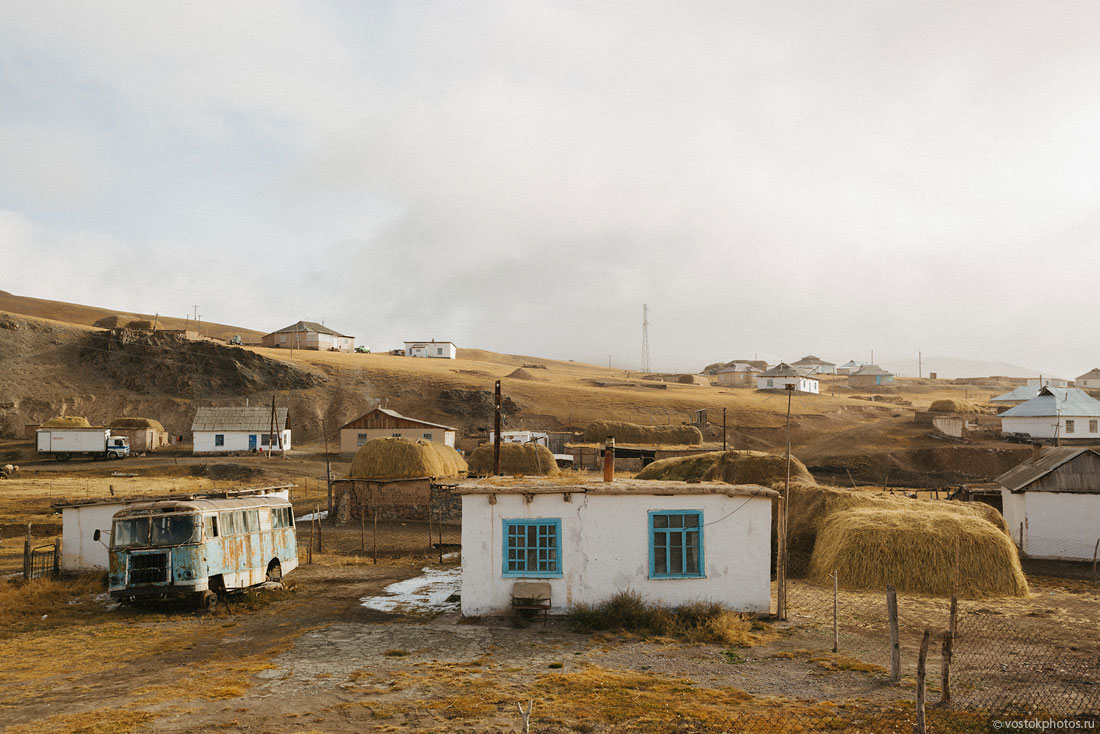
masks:
<path id="1" fill-rule="evenodd" d="M 1100 540 L 1100 452 L 1074 446 L 1036 450 L 996 481 L 1022 555 L 1092 560 Z"/>

